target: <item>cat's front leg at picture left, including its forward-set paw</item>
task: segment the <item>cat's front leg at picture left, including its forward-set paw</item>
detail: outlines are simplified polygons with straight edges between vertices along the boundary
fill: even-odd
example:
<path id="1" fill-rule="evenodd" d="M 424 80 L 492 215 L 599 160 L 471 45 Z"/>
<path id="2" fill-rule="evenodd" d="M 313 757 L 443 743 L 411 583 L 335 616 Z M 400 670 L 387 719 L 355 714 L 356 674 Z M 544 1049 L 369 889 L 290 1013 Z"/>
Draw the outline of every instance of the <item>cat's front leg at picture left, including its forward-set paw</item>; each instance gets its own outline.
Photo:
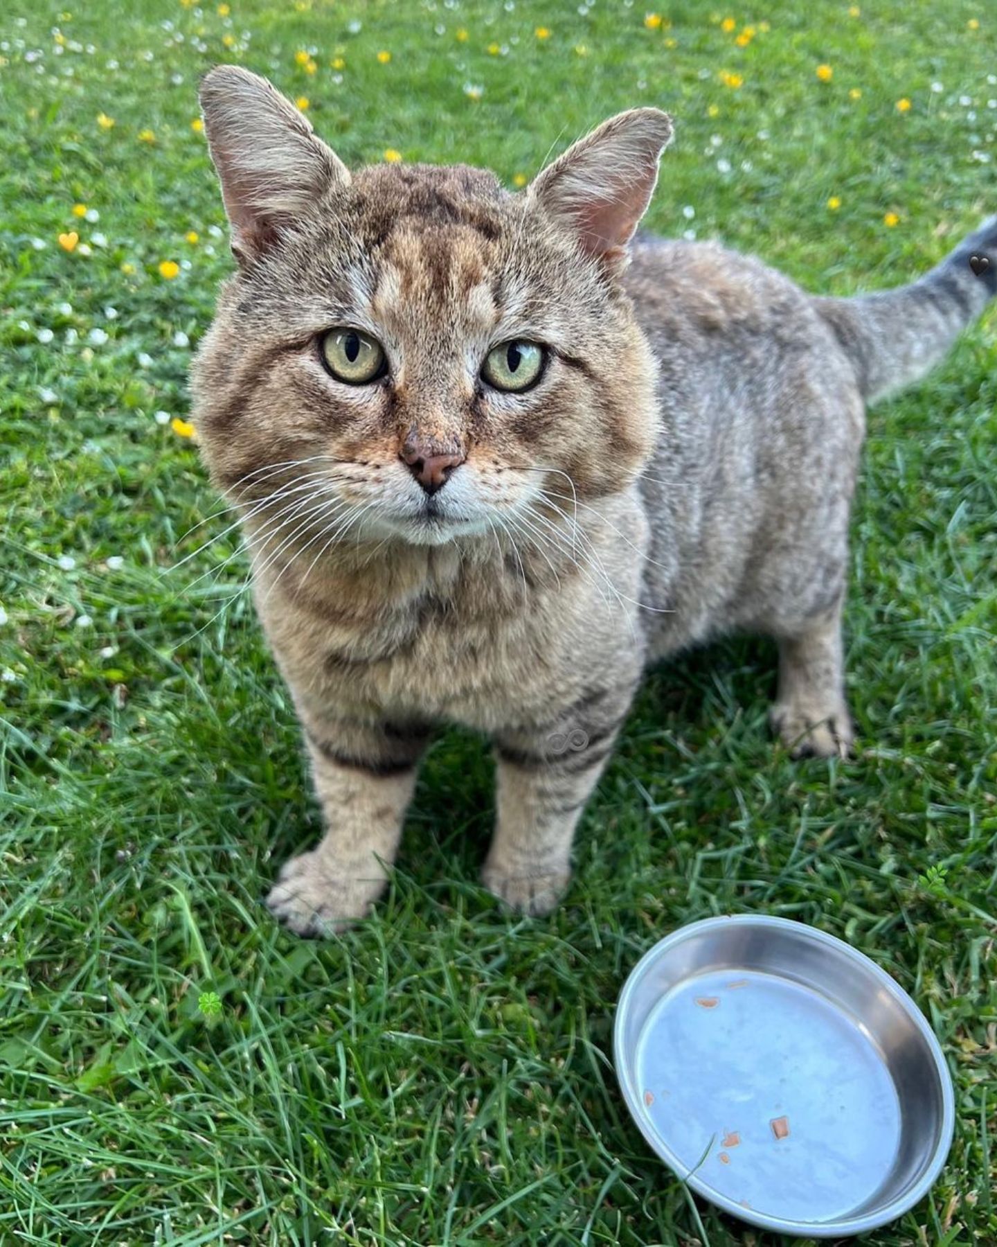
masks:
<path id="1" fill-rule="evenodd" d="M 298 935 L 328 935 L 363 918 L 384 890 L 429 733 L 310 716 L 303 726 L 327 831 L 284 863 L 267 905 Z"/>

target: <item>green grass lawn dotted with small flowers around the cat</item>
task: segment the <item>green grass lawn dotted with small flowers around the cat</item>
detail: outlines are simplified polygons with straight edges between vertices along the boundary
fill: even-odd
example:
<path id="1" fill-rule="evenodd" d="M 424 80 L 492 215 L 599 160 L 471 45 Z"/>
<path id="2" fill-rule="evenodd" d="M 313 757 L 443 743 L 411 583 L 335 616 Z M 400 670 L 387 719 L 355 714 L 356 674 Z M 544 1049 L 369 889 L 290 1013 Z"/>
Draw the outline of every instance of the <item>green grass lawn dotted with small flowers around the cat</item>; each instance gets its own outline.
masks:
<path id="1" fill-rule="evenodd" d="M 237 596 L 246 565 L 222 566 L 234 534 L 171 571 L 224 520 L 184 536 L 218 500 L 155 419 L 186 415 L 176 335 L 196 344 L 231 267 L 191 128 L 217 60 L 307 95 L 348 162 L 396 148 L 510 182 L 659 104 L 678 137 L 647 223 L 849 293 L 910 278 L 997 208 L 995 163 L 973 156 L 997 157 L 991 6 L 684 0 L 653 30 L 639 0 L 233 0 L 231 20 L 61 2 L 71 16 L 51 0 L 0 16 L 0 1241 L 771 1245 L 697 1211 L 628 1120 L 611 1060 L 641 953 L 754 912 L 869 953 L 945 1047 L 948 1163 L 867 1241 L 997 1242 L 992 312 L 870 419 L 846 619 L 857 758 L 773 748 L 769 646 L 656 671 L 546 920 L 506 917 L 477 885 L 490 764 L 452 732 L 376 915 L 328 944 L 278 930 L 260 894 L 319 831 L 298 729 Z M 722 30 L 728 11 L 759 27 L 748 47 Z M 71 229 L 88 257 L 59 247 Z M 189 268 L 166 281 L 167 259 Z M 199 1011 L 206 991 L 219 1014 Z"/>

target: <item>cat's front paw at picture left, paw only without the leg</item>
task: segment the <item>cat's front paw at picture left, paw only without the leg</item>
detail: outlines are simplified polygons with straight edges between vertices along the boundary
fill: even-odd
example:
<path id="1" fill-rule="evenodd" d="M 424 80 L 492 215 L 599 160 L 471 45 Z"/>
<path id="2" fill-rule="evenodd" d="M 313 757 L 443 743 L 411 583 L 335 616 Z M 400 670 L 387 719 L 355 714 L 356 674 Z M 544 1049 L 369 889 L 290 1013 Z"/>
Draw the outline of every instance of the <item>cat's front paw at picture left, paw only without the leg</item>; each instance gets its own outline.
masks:
<path id="1" fill-rule="evenodd" d="M 318 853 L 300 853 L 280 868 L 267 908 L 295 935 L 334 935 L 365 918 L 385 880 L 340 874 Z"/>

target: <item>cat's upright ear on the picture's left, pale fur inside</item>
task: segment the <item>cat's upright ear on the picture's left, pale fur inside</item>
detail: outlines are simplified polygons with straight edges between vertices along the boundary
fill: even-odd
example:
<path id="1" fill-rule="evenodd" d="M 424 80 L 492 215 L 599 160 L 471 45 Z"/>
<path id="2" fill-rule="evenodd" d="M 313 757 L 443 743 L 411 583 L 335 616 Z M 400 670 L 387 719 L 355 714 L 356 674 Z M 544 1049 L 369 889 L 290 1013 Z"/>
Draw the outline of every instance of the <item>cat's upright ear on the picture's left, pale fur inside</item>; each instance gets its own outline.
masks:
<path id="1" fill-rule="evenodd" d="M 242 263 L 279 238 L 330 186 L 349 186 L 343 161 L 273 86 L 237 65 L 201 81 L 208 150 Z"/>

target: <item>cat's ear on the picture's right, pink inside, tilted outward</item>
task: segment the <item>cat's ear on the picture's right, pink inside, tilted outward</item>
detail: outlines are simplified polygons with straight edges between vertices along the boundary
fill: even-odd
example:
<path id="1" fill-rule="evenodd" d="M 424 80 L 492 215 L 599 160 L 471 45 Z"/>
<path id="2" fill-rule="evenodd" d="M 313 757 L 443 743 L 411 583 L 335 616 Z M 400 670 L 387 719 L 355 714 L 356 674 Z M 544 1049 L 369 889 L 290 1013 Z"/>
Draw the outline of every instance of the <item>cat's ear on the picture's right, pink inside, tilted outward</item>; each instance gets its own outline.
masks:
<path id="1" fill-rule="evenodd" d="M 618 271 L 670 138 L 672 118 L 659 108 L 621 112 L 568 147 L 526 193 L 575 234 L 586 254 Z"/>

